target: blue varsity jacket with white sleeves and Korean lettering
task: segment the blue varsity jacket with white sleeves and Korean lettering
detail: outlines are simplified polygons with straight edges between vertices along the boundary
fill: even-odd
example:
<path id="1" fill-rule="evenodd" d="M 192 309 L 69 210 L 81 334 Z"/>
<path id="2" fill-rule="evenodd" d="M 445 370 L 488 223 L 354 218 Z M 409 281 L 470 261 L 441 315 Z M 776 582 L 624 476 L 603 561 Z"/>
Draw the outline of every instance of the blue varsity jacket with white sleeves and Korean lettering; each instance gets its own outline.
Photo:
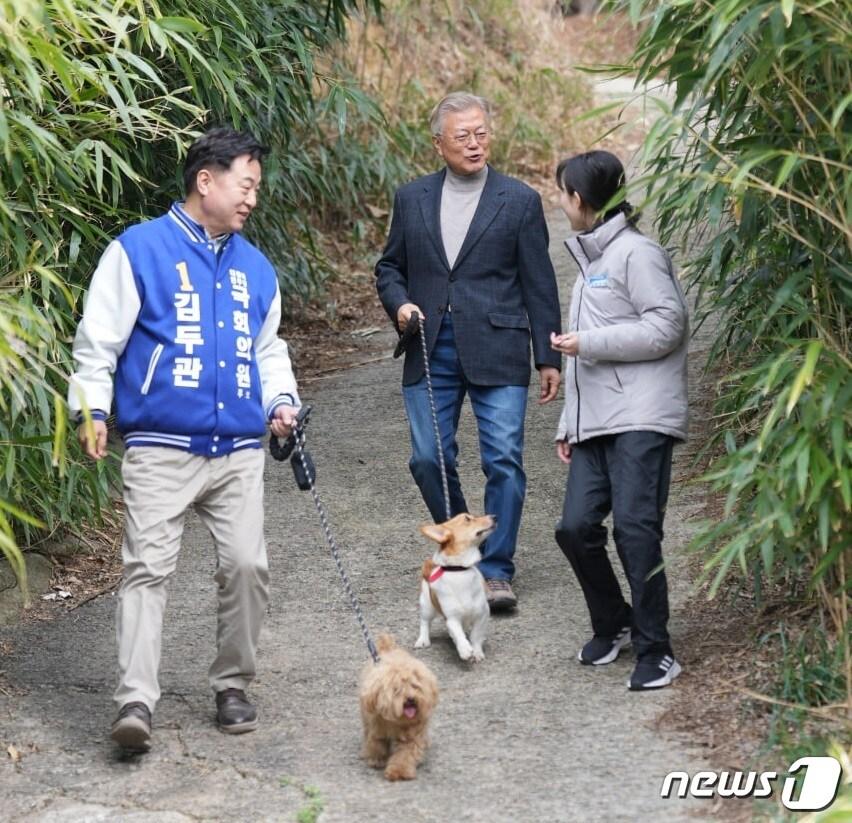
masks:
<path id="1" fill-rule="evenodd" d="M 275 409 L 299 405 L 280 320 L 266 257 L 239 234 L 214 242 L 176 203 L 104 252 L 74 339 L 71 412 L 102 418 L 114 392 L 128 447 L 259 448 Z"/>

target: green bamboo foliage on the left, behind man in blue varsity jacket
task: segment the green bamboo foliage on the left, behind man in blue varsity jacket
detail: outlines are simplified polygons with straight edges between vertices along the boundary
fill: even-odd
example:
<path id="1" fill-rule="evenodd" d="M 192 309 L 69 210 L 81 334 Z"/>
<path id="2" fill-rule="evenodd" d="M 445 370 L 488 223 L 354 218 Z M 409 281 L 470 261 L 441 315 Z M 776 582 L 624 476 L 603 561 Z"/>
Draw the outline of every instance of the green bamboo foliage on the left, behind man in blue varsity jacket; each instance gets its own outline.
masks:
<path id="1" fill-rule="evenodd" d="M 75 312 L 107 240 L 181 195 L 206 125 L 271 147 L 252 231 L 287 297 L 321 283 L 304 206 L 363 209 L 376 178 L 352 168 L 350 112 L 383 135 L 378 108 L 317 68 L 356 2 L 0 0 L 0 549 L 19 573 L 19 542 L 107 502 L 114 466 L 66 453 Z"/>

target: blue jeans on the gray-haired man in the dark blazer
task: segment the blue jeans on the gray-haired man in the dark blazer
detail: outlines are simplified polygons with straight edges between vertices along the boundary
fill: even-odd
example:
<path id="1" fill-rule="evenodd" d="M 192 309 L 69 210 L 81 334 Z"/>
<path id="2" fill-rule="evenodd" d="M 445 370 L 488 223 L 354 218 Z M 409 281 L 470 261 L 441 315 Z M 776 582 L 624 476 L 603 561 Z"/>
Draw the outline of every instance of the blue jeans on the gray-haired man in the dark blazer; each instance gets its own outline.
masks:
<path id="1" fill-rule="evenodd" d="M 523 451 L 528 387 L 468 383 L 456 351 L 449 313 L 444 315 L 429 367 L 447 467 L 451 516 L 468 510 L 456 468 L 456 431 L 462 402 L 468 394 L 479 429 L 479 453 L 486 478 L 483 514 L 497 517 L 497 530 L 482 547 L 479 569 L 486 578 L 511 580 L 527 487 Z M 408 465 L 430 514 L 436 523 L 442 523 L 447 519 L 446 506 L 425 376 L 414 385 L 403 386 L 402 394 L 411 428 L 412 453 Z"/>

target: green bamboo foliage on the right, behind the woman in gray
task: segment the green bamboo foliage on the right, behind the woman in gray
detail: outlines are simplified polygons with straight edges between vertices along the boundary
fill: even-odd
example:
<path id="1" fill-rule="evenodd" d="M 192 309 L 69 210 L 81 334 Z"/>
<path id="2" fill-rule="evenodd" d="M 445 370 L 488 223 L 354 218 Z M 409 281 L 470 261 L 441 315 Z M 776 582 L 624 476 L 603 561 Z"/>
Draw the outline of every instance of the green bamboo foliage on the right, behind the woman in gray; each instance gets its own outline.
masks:
<path id="1" fill-rule="evenodd" d="M 629 6 L 645 28 L 628 68 L 674 96 L 659 101 L 642 184 L 664 240 L 697 238 L 689 279 L 700 319 L 720 324 L 710 367 L 733 372 L 709 474 L 724 519 L 698 545 L 715 547 L 714 587 L 732 565 L 807 574 L 839 626 L 852 535 L 852 7 Z"/>

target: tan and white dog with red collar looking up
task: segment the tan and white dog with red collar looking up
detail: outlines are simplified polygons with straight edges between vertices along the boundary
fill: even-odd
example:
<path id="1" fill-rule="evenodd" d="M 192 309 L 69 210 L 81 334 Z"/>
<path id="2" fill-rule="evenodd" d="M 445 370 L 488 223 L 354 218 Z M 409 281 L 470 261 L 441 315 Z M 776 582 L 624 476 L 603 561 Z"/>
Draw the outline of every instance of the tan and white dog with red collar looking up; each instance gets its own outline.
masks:
<path id="1" fill-rule="evenodd" d="M 423 564 L 420 583 L 420 636 L 416 649 L 431 645 L 429 628 L 437 615 L 447 621 L 447 631 L 462 660 L 485 659 L 482 644 L 488 633 L 490 610 L 485 580 L 476 564 L 479 547 L 497 527 L 497 518 L 457 514 L 446 523 L 427 523 L 420 531 L 438 544 Z M 470 639 L 468 639 L 468 635 Z"/>

